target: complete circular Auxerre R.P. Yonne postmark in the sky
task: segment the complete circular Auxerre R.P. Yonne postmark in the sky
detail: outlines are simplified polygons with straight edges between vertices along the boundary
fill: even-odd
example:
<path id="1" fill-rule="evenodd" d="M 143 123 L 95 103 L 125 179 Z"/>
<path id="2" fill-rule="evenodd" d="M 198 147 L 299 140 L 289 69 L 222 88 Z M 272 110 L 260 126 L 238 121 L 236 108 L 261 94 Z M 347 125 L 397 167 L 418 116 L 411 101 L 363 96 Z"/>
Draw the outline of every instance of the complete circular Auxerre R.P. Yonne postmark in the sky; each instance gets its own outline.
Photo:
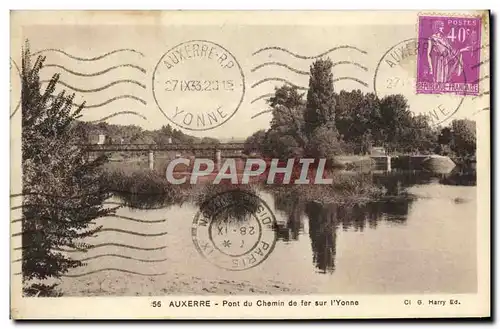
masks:
<path id="1" fill-rule="evenodd" d="M 153 97 L 163 115 L 188 130 L 227 122 L 245 95 L 236 58 L 221 45 L 191 40 L 167 51 L 153 72 Z"/>

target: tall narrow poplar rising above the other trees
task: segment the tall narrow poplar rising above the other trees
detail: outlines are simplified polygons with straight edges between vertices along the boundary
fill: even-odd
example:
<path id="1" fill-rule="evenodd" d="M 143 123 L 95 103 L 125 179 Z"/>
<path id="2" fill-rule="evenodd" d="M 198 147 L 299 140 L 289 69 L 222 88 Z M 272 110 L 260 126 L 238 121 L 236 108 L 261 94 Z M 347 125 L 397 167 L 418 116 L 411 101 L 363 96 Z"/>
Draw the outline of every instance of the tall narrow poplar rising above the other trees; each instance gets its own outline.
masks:
<path id="1" fill-rule="evenodd" d="M 333 63 L 329 58 L 318 59 L 311 65 L 304 113 L 307 136 L 321 126 L 336 130 L 332 67 Z"/>

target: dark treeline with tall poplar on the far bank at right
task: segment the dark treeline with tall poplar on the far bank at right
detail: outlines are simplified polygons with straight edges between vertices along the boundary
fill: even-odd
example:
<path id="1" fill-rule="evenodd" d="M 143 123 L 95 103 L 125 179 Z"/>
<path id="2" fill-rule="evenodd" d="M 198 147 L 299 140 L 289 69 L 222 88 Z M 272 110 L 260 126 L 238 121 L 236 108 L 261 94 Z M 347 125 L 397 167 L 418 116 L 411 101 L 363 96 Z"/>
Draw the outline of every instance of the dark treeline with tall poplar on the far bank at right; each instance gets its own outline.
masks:
<path id="1" fill-rule="evenodd" d="M 360 90 L 334 92 L 332 62 L 320 59 L 310 68 L 307 95 L 294 87 L 276 88 L 268 100 L 271 126 L 246 140 L 247 154 L 324 157 L 366 154 L 371 147 L 390 153 L 472 156 L 476 126 L 453 120 L 449 127 L 433 127 L 424 115 L 414 115 L 402 95 L 378 98 Z"/>

